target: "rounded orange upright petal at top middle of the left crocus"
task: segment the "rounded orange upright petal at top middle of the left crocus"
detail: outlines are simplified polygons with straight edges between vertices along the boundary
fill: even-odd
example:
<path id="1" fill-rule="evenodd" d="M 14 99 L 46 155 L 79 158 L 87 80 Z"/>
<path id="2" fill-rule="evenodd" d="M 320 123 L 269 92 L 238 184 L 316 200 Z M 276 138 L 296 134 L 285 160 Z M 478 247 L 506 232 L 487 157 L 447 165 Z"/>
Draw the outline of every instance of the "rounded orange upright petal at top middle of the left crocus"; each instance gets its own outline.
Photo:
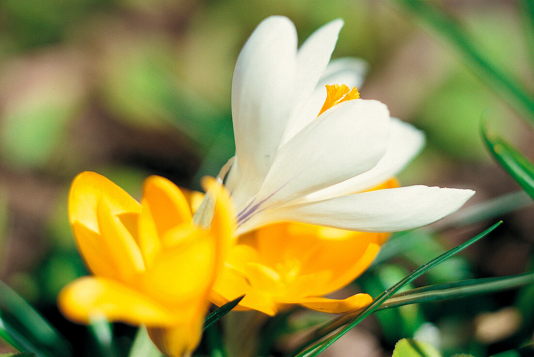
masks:
<path id="1" fill-rule="evenodd" d="M 191 209 L 184 194 L 170 180 L 150 176 L 143 186 L 143 201 L 148 204 L 158 234 L 191 221 Z"/>

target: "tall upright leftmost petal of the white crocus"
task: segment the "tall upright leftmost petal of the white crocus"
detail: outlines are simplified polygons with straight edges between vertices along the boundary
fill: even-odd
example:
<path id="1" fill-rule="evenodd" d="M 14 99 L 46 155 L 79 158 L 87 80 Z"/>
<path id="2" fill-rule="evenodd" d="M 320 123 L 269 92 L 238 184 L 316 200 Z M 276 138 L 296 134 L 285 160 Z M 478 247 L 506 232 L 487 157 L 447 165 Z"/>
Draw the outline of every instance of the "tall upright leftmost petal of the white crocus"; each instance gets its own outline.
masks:
<path id="1" fill-rule="evenodd" d="M 232 80 L 235 150 L 242 172 L 261 183 L 293 101 L 297 35 L 285 17 L 269 17 L 239 54 Z"/>

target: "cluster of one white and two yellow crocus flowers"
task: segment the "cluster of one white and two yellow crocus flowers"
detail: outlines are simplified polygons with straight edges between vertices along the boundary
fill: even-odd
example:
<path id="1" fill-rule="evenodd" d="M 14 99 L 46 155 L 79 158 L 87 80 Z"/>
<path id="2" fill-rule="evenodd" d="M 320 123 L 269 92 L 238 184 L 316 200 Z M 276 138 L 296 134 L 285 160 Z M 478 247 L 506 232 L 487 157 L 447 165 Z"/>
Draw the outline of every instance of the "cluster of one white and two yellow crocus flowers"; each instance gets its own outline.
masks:
<path id="1" fill-rule="evenodd" d="M 365 271 L 387 232 L 432 223 L 473 195 L 399 187 L 395 174 L 423 135 L 359 99 L 362 62 L 330 60 L 342 24 L 297 49 L 293 23 L 271 17 L 248 39 L 232 82 L 236 155 L 225 187 L 210 181 L 211 225 L 161 177 L 145 181 L 141 203 L 96 173 L 74 180 L 70 223 L 95 276 L 61 293 L 65 315 L 145 324 L 164 353 L 182 356 L 197 346 L 210 300 L 244 295 L 237 310 L 268 315 L 295 304 L 354 312 L 372 298 L 324 296 Z"/>

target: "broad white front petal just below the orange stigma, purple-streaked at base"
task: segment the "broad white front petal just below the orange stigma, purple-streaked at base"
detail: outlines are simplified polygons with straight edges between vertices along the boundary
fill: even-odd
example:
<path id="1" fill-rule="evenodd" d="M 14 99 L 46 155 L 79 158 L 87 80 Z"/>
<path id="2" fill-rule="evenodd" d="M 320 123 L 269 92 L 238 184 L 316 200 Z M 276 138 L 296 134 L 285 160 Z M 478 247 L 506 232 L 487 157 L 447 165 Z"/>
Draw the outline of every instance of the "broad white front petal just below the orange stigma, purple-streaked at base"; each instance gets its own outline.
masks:
<path id="1" fill-rule="evenodd" d="M 373 168 L 386 152 L 389 119 L 386 105 L 376 100 L 349 100 L 326 110 L 280 147 L 250 213 Z"/>

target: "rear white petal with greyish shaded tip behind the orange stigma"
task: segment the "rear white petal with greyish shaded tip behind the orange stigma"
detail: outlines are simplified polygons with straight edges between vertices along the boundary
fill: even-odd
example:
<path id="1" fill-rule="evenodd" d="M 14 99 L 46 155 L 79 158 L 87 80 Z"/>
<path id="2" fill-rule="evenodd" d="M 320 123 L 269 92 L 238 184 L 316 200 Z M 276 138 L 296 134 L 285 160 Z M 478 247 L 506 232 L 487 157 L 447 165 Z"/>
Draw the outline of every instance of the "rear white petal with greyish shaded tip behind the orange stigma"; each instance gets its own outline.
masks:
<path id="1" fill-rule="evenodd" d="M 282 144 L 292 138 L 319 114 L 326 99 L 326 84 L 346 84 L 349 88 L 360 88 L 367 70 L 367 63 L 356 58 L 339 58 L 330 61 L 317 86 L 310 93 L 301 109 L 295 111 L 288 122 Z"/>

